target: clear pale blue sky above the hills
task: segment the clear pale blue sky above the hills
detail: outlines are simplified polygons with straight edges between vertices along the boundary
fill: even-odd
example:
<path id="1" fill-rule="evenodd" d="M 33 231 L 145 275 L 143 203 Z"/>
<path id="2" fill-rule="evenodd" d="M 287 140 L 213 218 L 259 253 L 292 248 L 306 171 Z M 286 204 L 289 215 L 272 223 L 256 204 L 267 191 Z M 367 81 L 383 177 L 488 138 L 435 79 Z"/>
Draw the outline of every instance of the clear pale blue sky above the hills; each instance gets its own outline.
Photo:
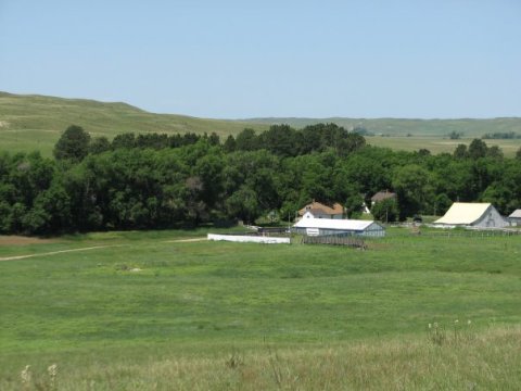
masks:
<path id="1" fill-rule="evenodd" d="M 521 0 L 0 0 L 0 90 L 220 118 L 521 116 Z"/>

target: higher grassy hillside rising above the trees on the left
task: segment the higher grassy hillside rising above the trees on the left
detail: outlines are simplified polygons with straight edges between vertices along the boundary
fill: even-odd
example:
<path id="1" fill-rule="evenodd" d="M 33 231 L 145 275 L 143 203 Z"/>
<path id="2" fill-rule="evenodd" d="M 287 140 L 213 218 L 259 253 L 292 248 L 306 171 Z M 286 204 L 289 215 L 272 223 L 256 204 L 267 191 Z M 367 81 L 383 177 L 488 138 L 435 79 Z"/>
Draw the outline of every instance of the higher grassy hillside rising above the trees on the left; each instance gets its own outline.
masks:
<path id="1" fill-rule="evenodd" d="M 84 127 L 93 137 L 134 131 L 196 134 L 213 131 L 219 136 L 237 134 L 244 127 L 257 130 L 268 125 L 236 121 L 203 119 L 182 115 L 153 114 L 126 103 L 104 103 L 84 99 L 20 96 L 0 92 L 0 149 L 30 151 L 50 155 L 54 143 L 67 126 Z"/>

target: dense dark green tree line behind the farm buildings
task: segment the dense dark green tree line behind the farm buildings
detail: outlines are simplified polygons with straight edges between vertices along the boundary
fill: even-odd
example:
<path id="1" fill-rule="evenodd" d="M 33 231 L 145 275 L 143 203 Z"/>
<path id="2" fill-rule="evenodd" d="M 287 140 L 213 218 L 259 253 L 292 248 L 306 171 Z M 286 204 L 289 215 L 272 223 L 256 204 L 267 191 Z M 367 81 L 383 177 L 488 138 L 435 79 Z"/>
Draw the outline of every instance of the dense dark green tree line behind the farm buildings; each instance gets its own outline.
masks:
<path id="1" fill-rule="evenodd" d="M 521 207 L 521 149 L 514 159 L 475 139 L 453 154 L 392 151 L 334 124 L 256 135 L 124 134 L 112 141 L 67 128 L 54 159 L 0 154 L 0 232 L 150 229 L 260 216 L 287 220 L 312 200 L 340 202 L 356 217 L 383 189 L 397 199 L 377 217 L 443 214 L 454 201 Z M 387 204 L 390 203 L 390 204 Z"/>

